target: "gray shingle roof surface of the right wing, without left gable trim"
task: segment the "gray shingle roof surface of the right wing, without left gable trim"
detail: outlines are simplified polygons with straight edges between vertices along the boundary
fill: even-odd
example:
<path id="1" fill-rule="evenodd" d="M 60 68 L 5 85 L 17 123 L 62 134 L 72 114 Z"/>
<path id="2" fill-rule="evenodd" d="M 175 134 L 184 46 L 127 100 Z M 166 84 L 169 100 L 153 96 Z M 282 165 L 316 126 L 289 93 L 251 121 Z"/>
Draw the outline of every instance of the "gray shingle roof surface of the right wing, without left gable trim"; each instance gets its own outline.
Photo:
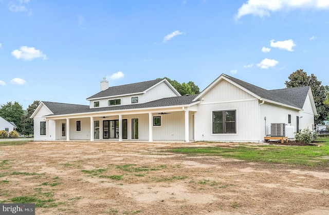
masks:
<path id="1" fill-rule="evenodd" d="M 247 82 L 241 81 L 239 79 L 235 79 L 229 75 L 223 74 L 228 79 L 232 80 L 236 84 L 239 84 L 243 88 L 251 91 L 252 93 L 267 99 L 273 102 L 279 102 L 285 105 L 303 108 L 309 86 L 305 87 L 293 87 L 293 88 L 285 88 L 285 89 L 277 89 L 277 90 L 266 90 L 261 87 L 257 87 L 255 85 L 249 84 Z"/>

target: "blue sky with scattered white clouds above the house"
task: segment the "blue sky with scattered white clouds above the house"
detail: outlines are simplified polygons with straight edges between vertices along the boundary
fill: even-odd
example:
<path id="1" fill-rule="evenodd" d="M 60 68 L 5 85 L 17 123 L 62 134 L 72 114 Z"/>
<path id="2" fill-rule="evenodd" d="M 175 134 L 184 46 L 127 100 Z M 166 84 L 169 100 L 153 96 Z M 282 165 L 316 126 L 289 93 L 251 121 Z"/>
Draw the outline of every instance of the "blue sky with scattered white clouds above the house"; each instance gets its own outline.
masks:
<path id="1" fill-rule="evenodd" d="M 0 28 L 0 105 L 88 104 L 103 77 L 279 89 L 304 69 L 329 85 L 329 0 L 0 0 Z"/>

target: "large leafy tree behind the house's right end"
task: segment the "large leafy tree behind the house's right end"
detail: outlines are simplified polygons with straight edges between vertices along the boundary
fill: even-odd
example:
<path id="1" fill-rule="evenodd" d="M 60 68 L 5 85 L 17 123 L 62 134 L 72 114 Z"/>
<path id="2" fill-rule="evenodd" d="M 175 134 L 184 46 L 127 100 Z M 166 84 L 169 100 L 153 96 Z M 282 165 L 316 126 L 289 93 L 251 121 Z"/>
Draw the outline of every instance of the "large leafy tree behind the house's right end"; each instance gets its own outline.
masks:
<path id="1" fill-rule="evenodd" d="M 318 112 L 318 115 L 314 117 L 315 124 L 323 124 L 323 121 L 327 119 L 329 111 L 329 105 L 325 103 L 329 87 L 321 85 L 321 82 L 318 81 L 314 74 L 308 76 L 303 69 L 291 73 L 288 79 L 290 81 L 285 82 L 287 88 L 310 86 Z"/>

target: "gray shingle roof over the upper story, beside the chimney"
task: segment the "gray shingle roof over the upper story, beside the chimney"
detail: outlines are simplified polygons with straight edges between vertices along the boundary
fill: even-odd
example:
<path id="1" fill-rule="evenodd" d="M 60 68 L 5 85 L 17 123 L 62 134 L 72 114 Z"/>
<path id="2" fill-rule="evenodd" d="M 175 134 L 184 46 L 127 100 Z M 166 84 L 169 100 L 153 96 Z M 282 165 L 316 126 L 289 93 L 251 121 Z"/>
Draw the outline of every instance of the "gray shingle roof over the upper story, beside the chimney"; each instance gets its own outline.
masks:
<path id="1" fill-rule="evenodd" d="M 97 98 L 101 98 L 101 97 L 109 97 L 109 96 L 143 92 L 143 91 L 149 89 L 150 87 L 156 85 L 157 83 L 161 82 L 162 80 L 163 79 L 156 79 L 156 80 L 152 80 L 152 81 L 109 87 L 106 90 L 100 91 L 100 92 L 96 93 L 95 95 L 88 97 L 87 100 L 97 99 Z"/>

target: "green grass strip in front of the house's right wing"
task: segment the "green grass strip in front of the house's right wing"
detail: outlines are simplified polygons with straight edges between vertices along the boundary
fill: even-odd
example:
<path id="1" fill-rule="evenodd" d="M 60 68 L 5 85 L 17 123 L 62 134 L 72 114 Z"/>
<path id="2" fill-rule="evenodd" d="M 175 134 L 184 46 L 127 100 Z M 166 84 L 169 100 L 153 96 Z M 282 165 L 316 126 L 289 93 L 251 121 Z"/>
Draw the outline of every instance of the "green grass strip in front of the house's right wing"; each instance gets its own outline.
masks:
<path id="1" fill-rule="evenodd" d="M 177 148 L 172 152 L 191 155 L 215 155 L 253 162 L 289 164 L 297 166 L 329 167 L 329 138 L 319 138 L 320 146 L 237 146 Z"/>

